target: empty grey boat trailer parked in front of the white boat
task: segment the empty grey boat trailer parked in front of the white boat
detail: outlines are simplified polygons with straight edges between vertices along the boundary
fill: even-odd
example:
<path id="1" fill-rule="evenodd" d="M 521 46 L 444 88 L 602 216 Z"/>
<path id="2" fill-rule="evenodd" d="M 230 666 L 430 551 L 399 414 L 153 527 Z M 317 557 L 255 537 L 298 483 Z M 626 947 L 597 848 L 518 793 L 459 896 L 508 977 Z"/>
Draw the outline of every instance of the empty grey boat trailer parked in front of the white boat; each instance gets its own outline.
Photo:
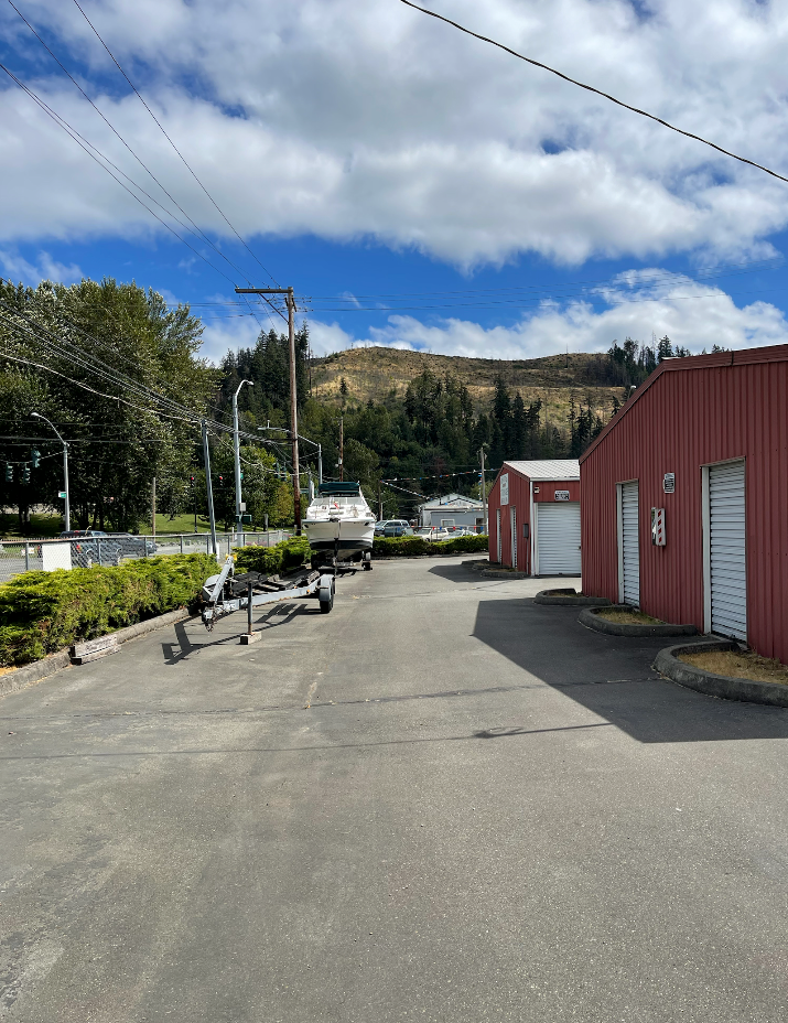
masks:
<path id="1" fill-rule="evenodd" d="M 290 579 L 263 575 L 261 572 L 244 572 L 236 575 L 235 562 L 230 554 L 218 575 L 211 575 L 205 580 L 202 591 L 203 625 L 211 632 L 219 618 L 246 607 L 247 636 L 252 636 L 251 613 L 255 607 L 277 604 L 279 601 L 312 597 L 320 602 L 321 613 L 328 614 L 334 606 L 335 592 L 334 567 L 302 571 Z"/>

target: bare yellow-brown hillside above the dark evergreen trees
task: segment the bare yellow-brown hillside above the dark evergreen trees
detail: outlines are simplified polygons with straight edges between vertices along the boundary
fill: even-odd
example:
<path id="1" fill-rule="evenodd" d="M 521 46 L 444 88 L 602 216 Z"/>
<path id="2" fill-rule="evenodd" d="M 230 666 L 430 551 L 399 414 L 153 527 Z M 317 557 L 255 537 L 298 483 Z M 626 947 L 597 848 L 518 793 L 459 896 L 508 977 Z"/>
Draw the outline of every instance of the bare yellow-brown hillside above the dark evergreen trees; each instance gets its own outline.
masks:
<path id="1" fill-rule="evenodd" d="M 598 387 L 585 383 L 587 369 L 598 356 L 585 353 L 548 355 L 533 359 L 463 358 L 403 352 L 399 348 L 349 348 L 325 358 L 313 359 L 312 392 L 324 401 L 342 400 L 341 381 L 347 384 L 346 401 L 350 405 L 369 398 L 381 401 L 396 395 L 402 397 L 408 384 L 425 369 L 438 377 L 450 375 L 464 384 L 479 409 L 489 406 L 495 379 L 503 375 L 512 395 L 519 394 L 528 405 L 541 400 L 551 422 L 565 420 L 570 399 L 576 405 L 591 406 L 604 420 L 611 414 L 613 396 L 620 401 L 620 387 Z"/>

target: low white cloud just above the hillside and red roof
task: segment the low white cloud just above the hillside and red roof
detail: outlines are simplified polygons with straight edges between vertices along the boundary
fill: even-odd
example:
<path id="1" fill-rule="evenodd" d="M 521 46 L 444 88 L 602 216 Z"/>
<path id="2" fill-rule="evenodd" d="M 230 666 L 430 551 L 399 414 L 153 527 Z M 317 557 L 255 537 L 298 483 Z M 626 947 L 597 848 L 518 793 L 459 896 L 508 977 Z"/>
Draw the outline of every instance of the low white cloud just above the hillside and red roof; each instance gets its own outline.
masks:
<path id="1" fill-rule="evenodd" d="M 384 327 L 355 337 L 337 324 L 312 322 L 316 354 L 356 344 L 386 345 L 439 355 L 475 358 L 539 358 L 558 352 L 605 352 L 614 338 L 651 343 L 652 333 L 697 354 L 712 345 L 745 348 L 788 344 L 788 322 L 781 310 L 756 301 L 736 306 L 717 288 L 661 271 L 626 274 L 606 289 L 604 308 L 589 301 L 543 304 L 514 326 L 484 327 L 455 317 L 425 324 L 413 316 L 391 315 Z"/>

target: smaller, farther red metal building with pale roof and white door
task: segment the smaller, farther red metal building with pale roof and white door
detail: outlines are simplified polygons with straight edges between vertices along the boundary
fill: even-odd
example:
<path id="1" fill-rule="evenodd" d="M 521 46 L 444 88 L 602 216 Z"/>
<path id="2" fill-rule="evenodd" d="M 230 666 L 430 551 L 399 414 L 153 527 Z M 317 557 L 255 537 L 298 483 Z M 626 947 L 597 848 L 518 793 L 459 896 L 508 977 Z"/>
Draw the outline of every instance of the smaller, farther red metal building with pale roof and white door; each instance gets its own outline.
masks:
<path id="1" fill-rule="evenodd" d="M 580 575 L 575 459 L 504 462 L 488 497 L 489 560 L 529 575 Z"/>

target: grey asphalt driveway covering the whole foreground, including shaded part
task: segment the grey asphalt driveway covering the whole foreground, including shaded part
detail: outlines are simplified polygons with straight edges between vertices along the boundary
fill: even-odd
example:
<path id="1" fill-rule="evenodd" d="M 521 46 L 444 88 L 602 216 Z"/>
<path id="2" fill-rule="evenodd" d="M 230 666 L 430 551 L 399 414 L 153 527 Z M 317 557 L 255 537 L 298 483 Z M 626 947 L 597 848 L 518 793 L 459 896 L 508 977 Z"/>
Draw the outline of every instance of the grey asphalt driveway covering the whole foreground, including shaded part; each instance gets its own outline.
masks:
<path id="1" fill-rule="evenodd" d="M 788 711 L 548 584 L 379 562 L 1 699 L 0 1019 L 788 1019 Z"/>

